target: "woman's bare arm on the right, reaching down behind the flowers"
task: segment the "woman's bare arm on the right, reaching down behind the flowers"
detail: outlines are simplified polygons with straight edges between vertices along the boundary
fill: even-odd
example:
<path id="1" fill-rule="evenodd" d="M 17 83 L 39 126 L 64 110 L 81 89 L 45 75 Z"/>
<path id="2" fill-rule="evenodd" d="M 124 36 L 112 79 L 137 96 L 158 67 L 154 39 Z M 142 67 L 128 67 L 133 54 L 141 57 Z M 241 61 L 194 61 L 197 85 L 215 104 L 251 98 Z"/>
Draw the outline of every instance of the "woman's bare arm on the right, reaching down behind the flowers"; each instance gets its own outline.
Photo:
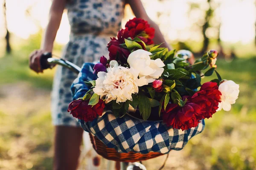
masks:
<path id="1" fill-rule="evenodd" d="M 154 21 L 152 21 L 148 17 L 148 15 L 147 15 L 147 13 L 146 13 L 146 11 L 145 11 L 141 1 L 140 0 L 126 0 L 126 3 L 128 3 L 131 6 L 132 11 L 133 11 L 134 15 L 137 18 L 142 18 L 143 20 L 148 21 L 150 26 L 155 28 L 155 36 L 154 36 L 154 39 L 153 39 L 154 43 L 155 44 L 160 44 L 160 43 L 164 42 L 161 45 L 161 47 L 166 47 L 169 50 L 171 50 L 172 49 L 171 46 L 164 39 L 163 34 L 161 33 L 161 31 L 160 31 L 159 27 L 157 26 L 157 24 L 154 23 Z"/>

